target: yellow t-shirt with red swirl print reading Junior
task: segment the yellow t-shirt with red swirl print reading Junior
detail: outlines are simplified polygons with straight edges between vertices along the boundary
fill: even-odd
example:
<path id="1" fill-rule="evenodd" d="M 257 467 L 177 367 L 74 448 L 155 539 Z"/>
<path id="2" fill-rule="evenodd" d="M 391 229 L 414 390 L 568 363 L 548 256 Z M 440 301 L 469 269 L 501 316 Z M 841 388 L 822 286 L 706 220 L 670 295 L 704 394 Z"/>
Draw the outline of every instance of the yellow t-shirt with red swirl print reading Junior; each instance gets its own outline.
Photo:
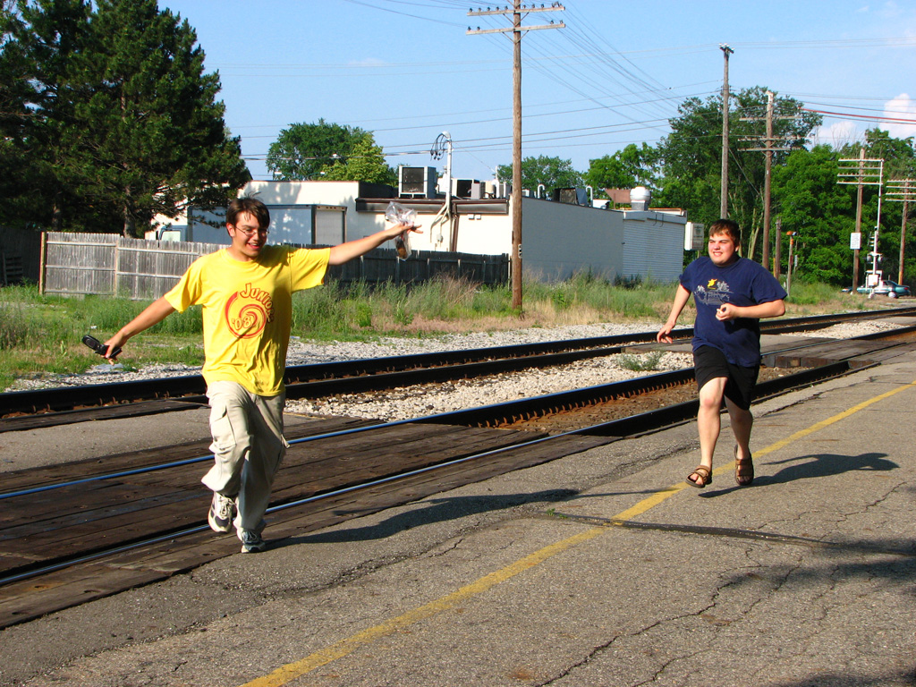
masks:
<path id="1" fill-rule="evenodd" d="M 283 390 L 292 293 L 318 286 L 330 248 L 266 245 L 242 262 L 226 249 L 195 260 L 165 295 L 177 311 L 202 305 L 202 374 L 207 384 L 238 382 L 259 396 Z"/>

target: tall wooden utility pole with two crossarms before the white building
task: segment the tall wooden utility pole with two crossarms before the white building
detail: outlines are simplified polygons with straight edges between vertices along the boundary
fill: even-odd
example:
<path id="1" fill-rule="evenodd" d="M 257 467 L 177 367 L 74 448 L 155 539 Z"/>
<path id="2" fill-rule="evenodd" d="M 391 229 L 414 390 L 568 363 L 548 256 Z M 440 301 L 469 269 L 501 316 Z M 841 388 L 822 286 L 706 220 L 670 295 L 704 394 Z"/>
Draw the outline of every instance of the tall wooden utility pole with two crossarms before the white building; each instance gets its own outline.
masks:
<path id="1" fill-rule="evenodd" d="M 512 15 L 511 28 L 486 28 L 477 27 L 473 30 L 467 28 L 467 34 L 485 33 L 511 33 L 512 34 L 512 255 L 509 257 L 512 266 L 512 307 L 519 313 L 522 309 L 521 298 L 521 36 L 522 31 L 538 31 L 543 28 L 562 28 L 565 24 L 559 22 L 538 27 L 523 27 L 522 14 L 529 12 L 558 12 L 566 9 L 559 3 L 550 7 L 535 7 L 534 5 L 521 5 L 521 0 L 513 0 L 511 9 L 471 10 L 467 16 Z"/>

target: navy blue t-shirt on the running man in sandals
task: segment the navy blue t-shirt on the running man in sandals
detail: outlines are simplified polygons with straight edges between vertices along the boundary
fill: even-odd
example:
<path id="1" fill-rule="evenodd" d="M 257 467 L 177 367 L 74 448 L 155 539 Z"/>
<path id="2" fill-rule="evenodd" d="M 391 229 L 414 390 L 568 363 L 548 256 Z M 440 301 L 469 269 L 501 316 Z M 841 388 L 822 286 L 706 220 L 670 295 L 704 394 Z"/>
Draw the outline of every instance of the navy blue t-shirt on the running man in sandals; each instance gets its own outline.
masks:
<path id="1" fill-rule="evenodd" d="M 746 257 L 738 257 L 725 267 L 716 267 L 709 256 L 702 256 L 684 269 L 681 285 L 693 294 L 696 305 L 693 350 L 713 346 L 722 351 L 732 365 L 759 365 L 760 321 L 739 317 L 719 322 L 715 319 L 715 311 L 723 303 L 746 307 L 784 299 L 787 294 L 780 282 L 762 265 Z"/>

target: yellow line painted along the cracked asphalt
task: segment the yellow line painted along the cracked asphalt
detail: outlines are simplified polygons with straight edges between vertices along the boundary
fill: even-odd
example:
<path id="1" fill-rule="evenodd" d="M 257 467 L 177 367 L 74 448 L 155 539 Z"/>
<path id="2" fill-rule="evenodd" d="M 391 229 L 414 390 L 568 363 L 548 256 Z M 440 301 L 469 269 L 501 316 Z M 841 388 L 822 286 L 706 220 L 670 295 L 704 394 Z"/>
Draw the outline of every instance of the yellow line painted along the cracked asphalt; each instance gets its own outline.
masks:
<path id="1" fill-rule="evenodd" d="M 756 452 L 756 455 L 766 455 L 767 453 L 773 453 L 778 451 L 785 446 L 788 446 L 792 442 L 797 442 L 798 440 L 812 434 L 816 431 L 821 431 L 826 427 L 839 422 L 840 420 L 845 420 L 850 415 L 857 413 L 859 410 L 866 409 L 868 406 L 871 406 L 878 401 L 884 400 L 885 398 L 890 398 L 895 394 L 899 394 L 901 391 L 905 391 L 909 388 L 916 387 L 916 382 L 911 382 L 911 384 L 905 385 L 903 387 L 896 388 L 892 391 L 889 391 L 875 398 L 869 398 L 867 401 L 853 406 L 850 409 L 844 410 L 841 413 L 837 413 L 832 418 L 827 418 L 813 424 L 807 429 L 796 431 L 794 434 L 791 434 L 789 437 L 780 440 L 779 442 L 771 443 L 764 449 Z M 716 470 L 716 473 L 726 472 L 732 469 L 731 465 L 724 465 L 723 467 Z M 677 485 L 672 485 L 661 489 L 652 496 L 644 498 L 636 506 L 627 508 L 621 513 L 618 513 L 612 520 L 616 522 L 626 522 L 629 519 L 636 518 L 638 515 L 641 515 L 648 511 L 650 508 L 658 506 L 662 501 L 665 501 L 671 496 L 682 491 L 682 489 L 687 488 L 687 483 L 682 482 Z M 391 618 L 380 625 L 375 627 L 369 627 L 362 632 L 358 632 L 355 635 L 352 635 L 348 638 L 341 639 L 339 642 L 332 644 L 330 647 L 321 649 L 314 652 L 311 656 L 307 656 L 302 660 L 297 660 L 292 663 L 288 663 L 285 666 L 278 668 L 276 671 L 270 672 L 267 675 L 256 678 L 251 682 L 245 682 L 242 687 L 282 687 L 282 685 L 287 684 L 288 682 L 295 680 L 306 673 L 314 671 L 316 668 L 320 668 L 327 663 L 332 662 L 333 660 L 342 659 L 344 656 L 351 654 L 355 649 L 359 649 L 362 646 L 365 646 L 369 642 L 375 641 L 377 638 L 387 637 L 392 635 L 404 627 L 409 627 L 415 623 L 420 622 L 425 618 L 435 616 L 442 611 L 446 611 L 449 608 L 453 608 L 455 605 L 461 603 L 465 599 L 468 599 L 477 594 L 482 594 L 491 587 L 495 587 L 496 584 L 506 582 L 508 579 L 515 577 L 519 573 L 524 573 L 526 570 L 533 568 L 535 565 L 538 565 L 541 562 L 547 561 L 548 559 L 556 556 L 562 551 L 567 551 L 572 549 L 574 546 L 578 546 L 585 541 L 594 540 L 595 537 L 604 534 L 608 531 L 606 527 L 595 527 L 592 529 L 587 529 L 584 532 L 569 537 L 568 539 L 558 541 L 550 546 L 546 546 L 540 551 L 535 551 L 534 553 L 525 556 L 518 561 L 507 565 L 501 570 L 497 570 L 495 573 L 489 573 L 484 577 L 481 577 L 474 583 L 467 584 L 460 589 L 454 591 L 452 594 L 447 594 L 442 596 L 435 601 L 431 601 L 429 604 L 421 605 L 418 608 L 408 611 L 405 614 Z"/>

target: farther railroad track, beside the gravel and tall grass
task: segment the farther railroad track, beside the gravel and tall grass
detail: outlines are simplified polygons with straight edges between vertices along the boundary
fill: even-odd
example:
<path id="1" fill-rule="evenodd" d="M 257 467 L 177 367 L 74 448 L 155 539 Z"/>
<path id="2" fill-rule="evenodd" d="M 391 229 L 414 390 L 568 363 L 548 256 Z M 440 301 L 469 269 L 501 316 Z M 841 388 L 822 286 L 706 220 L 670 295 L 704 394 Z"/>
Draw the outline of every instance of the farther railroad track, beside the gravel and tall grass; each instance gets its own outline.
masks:
<path id="1" fill-rule="evenodd" d="M 816 331 L 840 322 L 916 315 L 916 307 L 818 315 L 761 322 L 763 333 Z M 674 332 L 678 339 L 692 329 Z M 337 394 L 378 391 L 417 384 L 472 378 L 532 367 L 567 365 L 579 360 L 620 353 L 633 344 L 655 341 L 655 333 L 623 334 L 570 341 L 499 346 L 431 354 L 411 354 L 336 363 L 291 365 L 287 368 L 287 398 L 322 398 Z M 129 417 L 187 409 L 206 403 L 200 375 L 147 379 L 114 384 L 55 387 L 0 394 L 0 431 L 30 429 L 95 419 Z M 125 408 L 119 408 L 124 406 Z M 35 415 L 41 420 L 25 421 Z M 15 420 L 15 421 L 11 421 Z"/>

